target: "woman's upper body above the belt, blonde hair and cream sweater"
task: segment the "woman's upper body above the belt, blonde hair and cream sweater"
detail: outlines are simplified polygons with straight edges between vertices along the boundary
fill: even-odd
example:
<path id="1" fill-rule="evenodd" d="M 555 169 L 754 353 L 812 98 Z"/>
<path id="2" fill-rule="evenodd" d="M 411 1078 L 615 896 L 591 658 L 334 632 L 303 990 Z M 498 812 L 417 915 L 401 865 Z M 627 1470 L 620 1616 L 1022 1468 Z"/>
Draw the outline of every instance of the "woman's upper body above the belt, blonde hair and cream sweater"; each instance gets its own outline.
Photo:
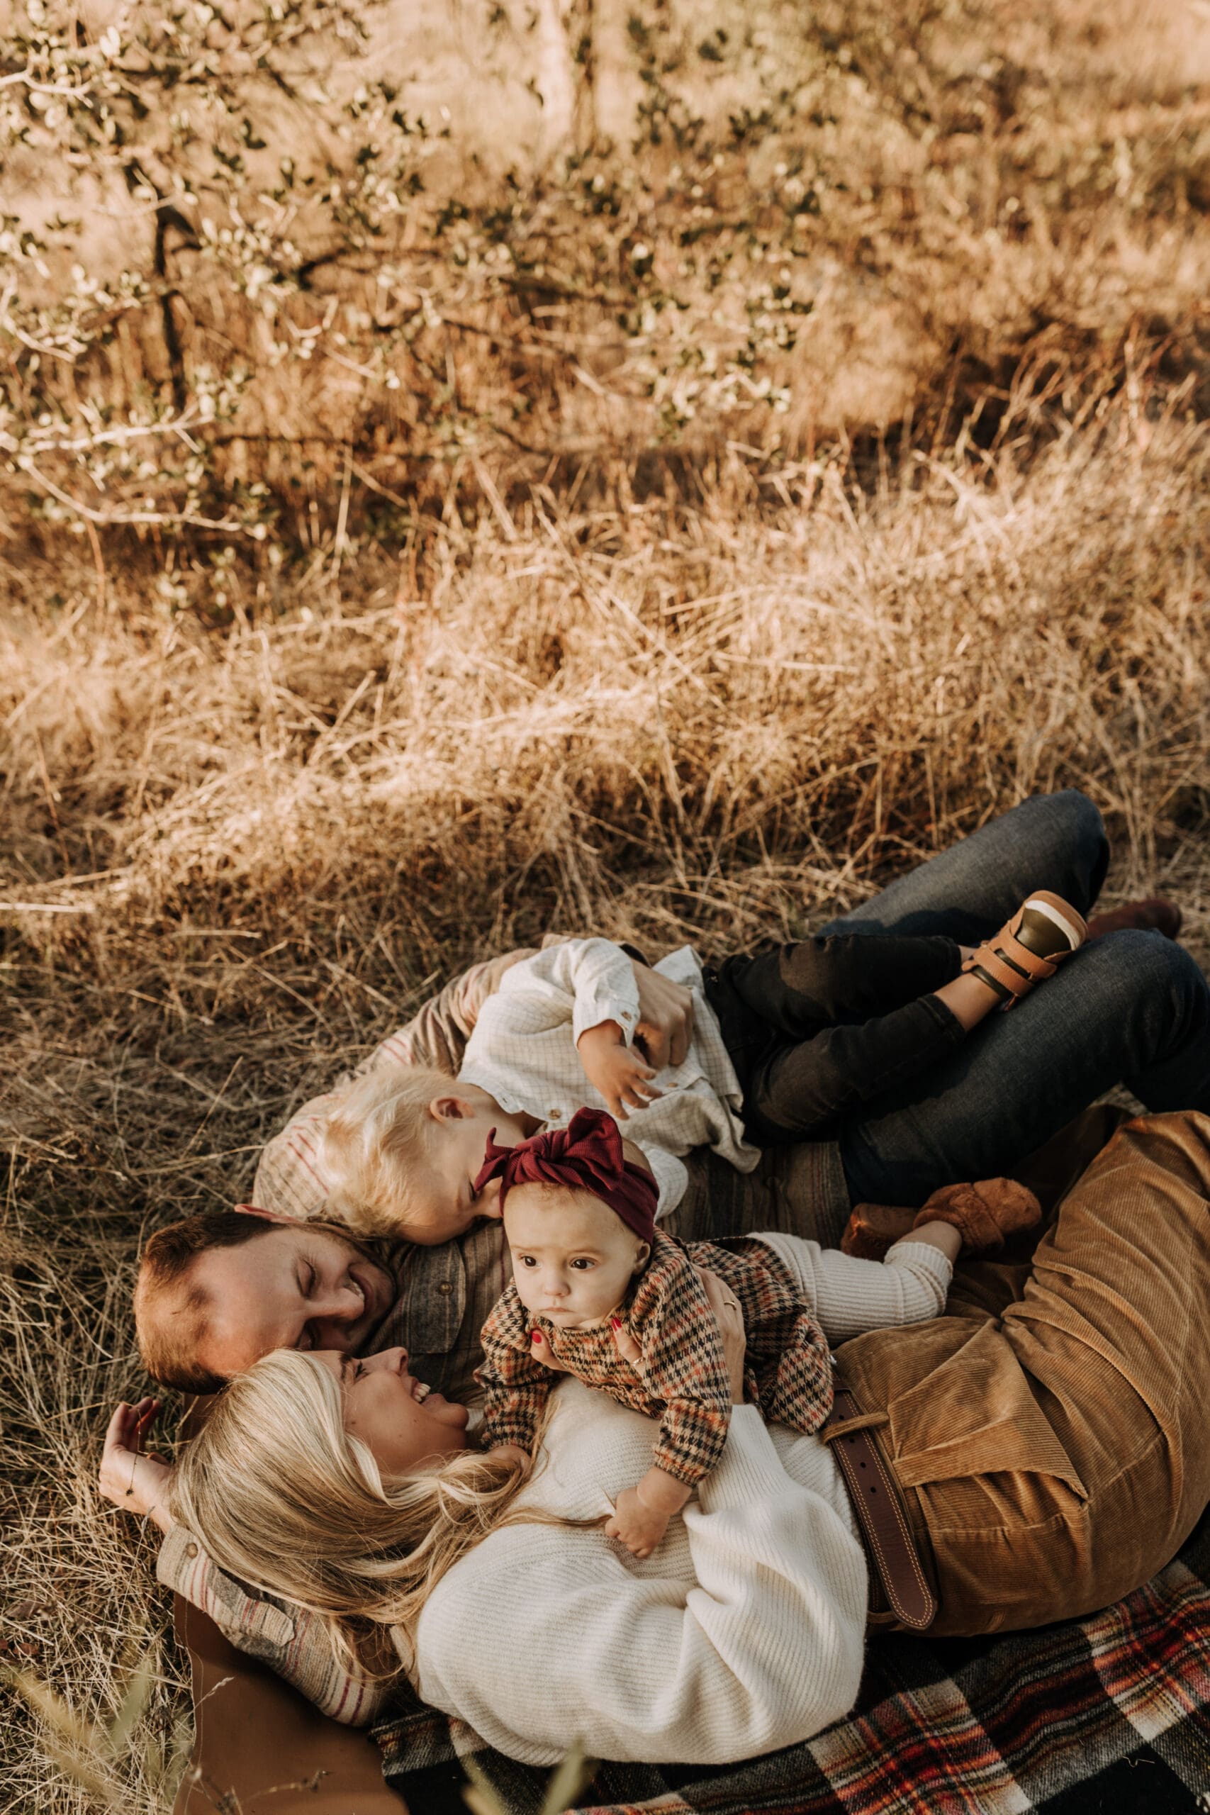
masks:
<path id="1" fill-rule="evenodd" d="M 258 1361 L 178 1463 L 169 1517 L 229 1575 L 323 1615 L 337 1666 L 381 1675 L 372 1637 L 386 1630 L 394 1668 L 426 1701 L 530 1762 L 577 1735 L 619 1759 L 722 1762 L 787 1744 L 804 1717 L 825 1724 L 856 1695 L 865 1565 L 738 1403 L 742 1314 L 720 1281 L 711 1301 L 731 1434 L 648 1565 L 602 1525 L 649 1459 L 649 1419 L 568 1379 L 522 1483 L 513 1463 L 468 1448 L 464 1408 L 434 1407 L 401 1349 Z M 473 1681 L 455 1681 L 464 1666 Z"/>

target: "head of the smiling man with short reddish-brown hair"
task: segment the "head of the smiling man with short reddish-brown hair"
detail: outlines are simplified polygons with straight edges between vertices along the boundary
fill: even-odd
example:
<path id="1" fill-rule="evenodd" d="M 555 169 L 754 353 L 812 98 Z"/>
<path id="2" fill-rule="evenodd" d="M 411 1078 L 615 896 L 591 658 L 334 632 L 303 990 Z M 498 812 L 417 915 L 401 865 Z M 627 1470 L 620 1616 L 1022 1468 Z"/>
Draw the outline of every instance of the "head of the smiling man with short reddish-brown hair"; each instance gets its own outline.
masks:
<path id="1" fill-rule="evenodd" d="M 198 1359 L 229 1378 L 272 1349 L 354 1352 L 395 1296 L 390 1274 L 330 1229 L 274 1223 L 189 1269 L 207 1298 Z"/>

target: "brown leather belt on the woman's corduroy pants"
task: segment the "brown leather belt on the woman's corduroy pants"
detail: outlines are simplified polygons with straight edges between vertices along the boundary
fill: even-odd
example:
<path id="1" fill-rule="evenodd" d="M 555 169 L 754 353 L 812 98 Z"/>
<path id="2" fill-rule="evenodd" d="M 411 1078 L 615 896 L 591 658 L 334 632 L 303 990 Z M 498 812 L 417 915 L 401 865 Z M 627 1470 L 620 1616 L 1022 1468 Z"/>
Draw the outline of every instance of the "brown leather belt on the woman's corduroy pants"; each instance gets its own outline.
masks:
<path id="1" fill-rule="evenodd" d="M 880 1612 L 878 1595 L 873 1594 L 880 1588 L 885 1606 L 902 1626 L 925 1632 L 936 1619 L 936 1595 L 920 1561 L 900 1488 L 873 1434 L 873 1425 L 882 1423 L 885 1423 L 883 1414 L 862 1412 L 853 1394 L 836 1379 L 833 1408 L 820 1436 L 831 1445 L 840 1465 L 865 1541 L 873 1575 L 871 1612 Z"/>

